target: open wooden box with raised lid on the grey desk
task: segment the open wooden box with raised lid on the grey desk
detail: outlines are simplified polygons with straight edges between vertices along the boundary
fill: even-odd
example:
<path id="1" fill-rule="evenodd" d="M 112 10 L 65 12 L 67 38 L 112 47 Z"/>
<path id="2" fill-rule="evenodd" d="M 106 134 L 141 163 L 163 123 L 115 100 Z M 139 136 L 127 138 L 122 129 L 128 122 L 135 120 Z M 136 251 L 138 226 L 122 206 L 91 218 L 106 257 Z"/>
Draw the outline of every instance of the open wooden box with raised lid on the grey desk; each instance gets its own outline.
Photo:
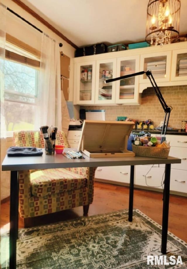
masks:
<path id="1" fill-rule="evenodd" d="M 133 157 L 127 150 L 131 121 L 84 120 L 78 150 L 89 157 Z"/>

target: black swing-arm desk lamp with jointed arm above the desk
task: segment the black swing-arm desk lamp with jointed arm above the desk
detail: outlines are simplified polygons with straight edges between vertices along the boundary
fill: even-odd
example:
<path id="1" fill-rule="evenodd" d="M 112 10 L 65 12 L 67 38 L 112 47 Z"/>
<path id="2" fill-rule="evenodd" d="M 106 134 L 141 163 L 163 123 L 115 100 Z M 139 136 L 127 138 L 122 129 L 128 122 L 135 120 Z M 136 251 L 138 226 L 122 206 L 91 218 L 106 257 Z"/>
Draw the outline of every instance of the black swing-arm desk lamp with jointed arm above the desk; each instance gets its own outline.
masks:
<path id="1" fill-rule="evenodd" d="M 166 134 L 166 131 L 167 131 L 167 125 L 168 125 L 168 122 L 169 122 L 169 116 L 170 116 L 170 112 L 172 110 L 172 107 L 171 106 L 168 106 L 162 96 L 162 93 L 160 92 L 160 89 L 158 88 L 156 82 L 155 82 L 155 79 L 153 78 L 153 75 L 151 73 L 150 70 L 148 71 L 141 71 L 141 72 L 137 72 L 137 73 L 134 73 L 134 74 L 129 74 L 129 75 L 125 75 L 125 76 L 120 76 L 120 77 L 117 77 L 117 78 L 114 78 L 114 79 L 107 79 L 105 80 L 105 83 L 109 83 L 109 82 L 112 82 L 112 81 L 116 81 L 116 80 L 121 80 L 121 79 L 127 79 L 127 78 L 130 78 L 131 76 L 138 76 L 138 75 L 143 75 L 143 74 L 146 74 L 146 76 L 149 78 L 150 82 L 151 82 L 151 85 L 153 86 L 153 89 L 155 90 L 155 93 L 156 93 L 156 96 L 158 97 L 161 105 L 162 105 L 162 108 L 164 109 L 164 112 L 165 112 L 165 118 L 164 118 L 164 124 L 162 126 L 162 132 L 161 134 L 162 135 L 165 135 Z"/>

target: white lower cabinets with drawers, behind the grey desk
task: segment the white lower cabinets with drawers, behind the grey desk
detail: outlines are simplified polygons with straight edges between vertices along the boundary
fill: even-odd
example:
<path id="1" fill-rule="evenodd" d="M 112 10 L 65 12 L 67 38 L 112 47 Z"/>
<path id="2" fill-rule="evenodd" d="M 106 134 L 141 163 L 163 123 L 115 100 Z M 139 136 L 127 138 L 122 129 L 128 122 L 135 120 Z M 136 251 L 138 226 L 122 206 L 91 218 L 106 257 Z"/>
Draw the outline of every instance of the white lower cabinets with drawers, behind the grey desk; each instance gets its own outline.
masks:
<path id="1" fill-rule="evenodd" d="M 81 130 L 68 131 L 68 141 L 72 148 L 77 148 Z M 187 196 L 187 136 L 167 135 L 170 141 L 169 156 L 181 159 L 181 164 L 171 165 L 170 193 Z M 136 188 L 162 191 L 164 188 L 165 165 L 137 165 L 134 171 Z M 128 186 L 130 183 L 130 166 L 98 167 L 95 180 Z"/>

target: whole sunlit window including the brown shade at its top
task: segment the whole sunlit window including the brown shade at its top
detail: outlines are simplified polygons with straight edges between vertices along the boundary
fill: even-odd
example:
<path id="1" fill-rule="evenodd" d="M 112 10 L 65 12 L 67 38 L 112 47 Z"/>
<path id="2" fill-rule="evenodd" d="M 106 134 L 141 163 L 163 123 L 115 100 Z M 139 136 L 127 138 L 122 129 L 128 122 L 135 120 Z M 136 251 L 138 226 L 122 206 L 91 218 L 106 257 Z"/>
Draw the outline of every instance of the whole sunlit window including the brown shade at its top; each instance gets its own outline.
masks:
<path id="1" fill-rule="evenodd" d="M 12 45 L 6 48 L 4 113 L 7 135 L 14 130 L 34 130 L 40 64 L 35 58 Z"/>

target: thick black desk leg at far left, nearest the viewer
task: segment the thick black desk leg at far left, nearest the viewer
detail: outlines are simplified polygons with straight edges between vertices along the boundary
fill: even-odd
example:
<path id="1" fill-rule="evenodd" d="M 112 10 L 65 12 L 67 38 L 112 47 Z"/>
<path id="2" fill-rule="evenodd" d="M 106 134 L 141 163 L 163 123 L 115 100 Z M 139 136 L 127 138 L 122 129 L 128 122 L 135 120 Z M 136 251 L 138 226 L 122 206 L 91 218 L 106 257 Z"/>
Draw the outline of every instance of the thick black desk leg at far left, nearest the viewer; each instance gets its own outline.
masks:
<path id="1" fill-rule="evenodd" d="M 18 171 L 11 171 L 10 190 L 10 258 L 9 267 L 16 268 L 16 241 L 18 237 Z"/>

